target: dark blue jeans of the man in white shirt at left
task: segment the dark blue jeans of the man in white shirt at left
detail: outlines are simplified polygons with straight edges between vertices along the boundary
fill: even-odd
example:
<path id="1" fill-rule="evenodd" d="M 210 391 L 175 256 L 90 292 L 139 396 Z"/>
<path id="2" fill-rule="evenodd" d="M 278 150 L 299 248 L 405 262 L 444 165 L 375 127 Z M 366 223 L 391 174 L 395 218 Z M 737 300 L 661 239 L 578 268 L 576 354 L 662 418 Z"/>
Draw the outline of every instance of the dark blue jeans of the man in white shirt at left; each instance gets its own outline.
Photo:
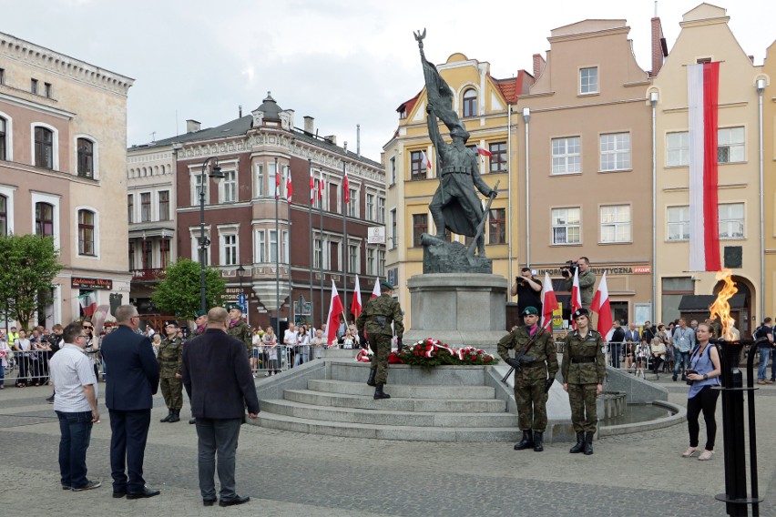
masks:
<path id="1" fill-rule="evenodd" d="M 63 487 L 87 486 L 87 449 L 92 435 L 92 412 L 66 413 L 59 417 L 59 474 Z"/>

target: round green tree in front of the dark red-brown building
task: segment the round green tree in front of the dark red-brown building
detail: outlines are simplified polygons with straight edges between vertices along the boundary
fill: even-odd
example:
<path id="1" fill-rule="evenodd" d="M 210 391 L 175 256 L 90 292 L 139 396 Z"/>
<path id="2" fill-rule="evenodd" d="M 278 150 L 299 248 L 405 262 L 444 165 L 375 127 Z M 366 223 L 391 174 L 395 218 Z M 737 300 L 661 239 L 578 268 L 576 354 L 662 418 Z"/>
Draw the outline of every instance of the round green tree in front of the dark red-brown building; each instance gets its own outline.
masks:
<path id="1" fill-rule="evenodd" d="M 165 277 L 151 294 L 158 309 L 181 318 L 192 318 L 199 310 L 199 263 L 184 258 L 165 269 Z M 207 308 L 220 305 L 226 291 L 226 281 L 218 269 L 205 269 L 205 299 Z"/>

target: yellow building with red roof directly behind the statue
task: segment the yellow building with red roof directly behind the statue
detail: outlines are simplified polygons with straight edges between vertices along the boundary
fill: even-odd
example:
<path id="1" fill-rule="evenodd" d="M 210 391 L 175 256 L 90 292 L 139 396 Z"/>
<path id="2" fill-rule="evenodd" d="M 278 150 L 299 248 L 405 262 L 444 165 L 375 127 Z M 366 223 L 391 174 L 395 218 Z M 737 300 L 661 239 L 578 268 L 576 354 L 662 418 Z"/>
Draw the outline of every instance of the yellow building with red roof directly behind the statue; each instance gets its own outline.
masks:
<path id="1" fill-rule="evenodd" d="M 514 117 L 510 115 L 517 96 L 527 91 L 533 77 L 521 70 L 510 79 L 495 79 L 490 65 L 454 54 L 444 65 L 437 66 L 440 75 L 454 91 L 454 106 L 471 137 L 470 147 L 487 149 L 493 156 L 480 158 L 480 172 L 491 188 L 498 186 L 498 197 L 491 206 L 485 228 L 485 253 L 493 259 L 493 272 L 512 278 L 511 260 L 516 256 L 516 229 L 507 214 L 510 209 L 510 184 L 516 170 Z M 420 72 L 420 67 L 418 68 Z M 420 76 L 420 75 L 419 75 Z M 429 169 L 424 154 L 436 164 L 436 153 L 426 126 L 427 98 L 425 88 L 404 102 L 399 112 L 399 126 L 383 147 L 388 190 L 386 195 L 386 269 L 389 281 L 398 284 L 398 297 L 405 311 L 404 324 L 410 327 L 407 279 L 423 273 L 421 234 L 434 233 L 434 221 L 428 210 L 434 191 L 439 186 L 437 166 Z M 444 124 L 440 132 L 450 141 Z M 512 181 L 510 180 L 512 178 Z M 514 199 L 513 199 L 514 201 Z M 465 242 L 461 236 L 451 238 Z"/>

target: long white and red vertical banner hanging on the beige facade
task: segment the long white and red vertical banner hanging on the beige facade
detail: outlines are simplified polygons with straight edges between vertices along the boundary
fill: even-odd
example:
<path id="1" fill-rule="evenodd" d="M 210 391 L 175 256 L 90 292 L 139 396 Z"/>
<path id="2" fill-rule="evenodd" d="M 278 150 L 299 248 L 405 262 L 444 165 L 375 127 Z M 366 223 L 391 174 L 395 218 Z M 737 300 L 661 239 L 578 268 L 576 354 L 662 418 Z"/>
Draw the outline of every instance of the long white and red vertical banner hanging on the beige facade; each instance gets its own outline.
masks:
<path id="1" fill-rule="evenodd" d="M 689 270 L 719 271 L 717 99 L 720 63 L 687 66 L 689 112 Z"/>

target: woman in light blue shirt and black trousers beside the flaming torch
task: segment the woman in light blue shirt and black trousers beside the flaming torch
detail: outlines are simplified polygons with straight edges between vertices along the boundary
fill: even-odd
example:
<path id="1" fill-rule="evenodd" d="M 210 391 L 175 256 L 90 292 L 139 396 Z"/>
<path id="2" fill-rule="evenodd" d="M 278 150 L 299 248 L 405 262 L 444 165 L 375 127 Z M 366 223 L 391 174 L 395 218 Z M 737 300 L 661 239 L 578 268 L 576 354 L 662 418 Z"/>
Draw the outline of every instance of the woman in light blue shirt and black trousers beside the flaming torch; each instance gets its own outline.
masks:
<path id="1" fill-rule="evenodd" d="M 708 461 L 714 457 L 714 438 L 717 434 L 717 421 L 714 420 L 714 413 L 717 410 L 720 390 L 714 390 L 712 387 L 720 385 L 722 370 L 720 369 L 720 354 L 717 347 L 709 343 L 712 335 L 713 330 L 708 323 L 700 323 L 695 329 L 698 346 L 690 354 L 689 370 L 687 370 L 689 448 L 682 453 L 682 458 L 691 458 L 700 452 L 698 447 L 700 411 L 703 411 L 703 420 L 706 421 L 706 447 L 703 452 L 700 452 L 698 459 Z"/>

